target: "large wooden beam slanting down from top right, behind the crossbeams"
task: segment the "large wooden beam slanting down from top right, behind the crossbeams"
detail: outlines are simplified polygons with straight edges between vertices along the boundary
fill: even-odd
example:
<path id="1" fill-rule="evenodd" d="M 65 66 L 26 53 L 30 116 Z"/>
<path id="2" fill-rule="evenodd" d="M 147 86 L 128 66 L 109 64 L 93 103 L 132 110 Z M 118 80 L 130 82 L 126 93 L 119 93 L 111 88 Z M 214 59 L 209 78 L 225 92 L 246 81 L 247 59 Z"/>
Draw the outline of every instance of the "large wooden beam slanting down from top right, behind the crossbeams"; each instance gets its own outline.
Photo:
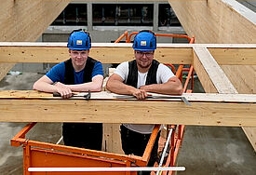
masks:
<path id="1" fill-rule="evenodd" d="M 181 21 L 186 34 L 189 36 L 195 35 L 196 43 L 250 44 L 256 42 L 256 13 L 236 1 L 168 0 L 168 2 Z M 255 65 L 249 67 L 249 70 L 256 69 Z M 242 68 L 242 70 L 245 70 L 243 76 L 239 75 L 236 79 L 236 74 L 240 72 L 241 66 L 222 67 L 222 69 L 239 93 L 255 93 L 255 80 L 250 81 L 249 79 L 255 77 L 256 72 L 253 73 Z M 238 80 L 246 83 L 239 83 Z M 206 91 L 211 92 L 209 88 Z M 256 128 L 243 129 L 246 135 L 249 136 L 249 141 L 254 150 L 256 150 Z M 252 131 L 253 129 L 254 131 Z M 247 133 L 247 130 L 249 130 L 249 133 Z"/>

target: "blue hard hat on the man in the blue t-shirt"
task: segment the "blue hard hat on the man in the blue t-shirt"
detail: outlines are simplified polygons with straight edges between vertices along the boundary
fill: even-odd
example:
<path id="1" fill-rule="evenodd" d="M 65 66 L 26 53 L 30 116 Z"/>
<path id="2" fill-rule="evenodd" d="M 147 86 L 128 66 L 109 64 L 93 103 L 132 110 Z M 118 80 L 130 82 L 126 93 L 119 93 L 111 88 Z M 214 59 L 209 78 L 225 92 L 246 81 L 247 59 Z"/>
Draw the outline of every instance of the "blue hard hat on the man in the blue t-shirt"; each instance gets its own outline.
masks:
<path id="1" fill-rule="evenodd" d="M 91 47 L 90 43 L 87 32 L 76 30 L 70 34 L 67 47 L 73 50 L 88 50 Z"/>

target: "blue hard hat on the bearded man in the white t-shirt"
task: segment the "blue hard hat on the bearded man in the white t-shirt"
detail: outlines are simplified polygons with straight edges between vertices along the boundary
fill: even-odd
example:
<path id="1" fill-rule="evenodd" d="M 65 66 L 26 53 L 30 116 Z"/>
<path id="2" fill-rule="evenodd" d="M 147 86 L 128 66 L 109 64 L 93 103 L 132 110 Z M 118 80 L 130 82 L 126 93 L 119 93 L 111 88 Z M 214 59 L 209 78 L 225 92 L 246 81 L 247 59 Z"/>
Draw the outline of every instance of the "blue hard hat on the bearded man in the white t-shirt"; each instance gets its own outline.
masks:
<path id="1" fill-rule="evenodd" d="M 155 34 L 150 31 L 141 31 L 134 37 L 133 49 L 138 51 L 153 51 L 156 49 Z"/>

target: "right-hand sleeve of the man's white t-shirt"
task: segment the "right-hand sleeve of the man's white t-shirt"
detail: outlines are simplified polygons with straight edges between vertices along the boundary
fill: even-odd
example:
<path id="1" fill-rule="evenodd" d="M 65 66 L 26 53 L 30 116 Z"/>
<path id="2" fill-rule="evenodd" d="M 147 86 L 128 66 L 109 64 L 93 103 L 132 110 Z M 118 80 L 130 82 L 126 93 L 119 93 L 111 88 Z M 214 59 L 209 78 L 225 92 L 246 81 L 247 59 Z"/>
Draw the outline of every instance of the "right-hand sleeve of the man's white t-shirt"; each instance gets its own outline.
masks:
<path id="1" fill-rule="evenodd" d="M 156 73 L 156 81 L 157 83 L 166 83 L 168 79 L 175 76 L 172 71 L 168 68 L 168 66 L 160 63 Z"/>

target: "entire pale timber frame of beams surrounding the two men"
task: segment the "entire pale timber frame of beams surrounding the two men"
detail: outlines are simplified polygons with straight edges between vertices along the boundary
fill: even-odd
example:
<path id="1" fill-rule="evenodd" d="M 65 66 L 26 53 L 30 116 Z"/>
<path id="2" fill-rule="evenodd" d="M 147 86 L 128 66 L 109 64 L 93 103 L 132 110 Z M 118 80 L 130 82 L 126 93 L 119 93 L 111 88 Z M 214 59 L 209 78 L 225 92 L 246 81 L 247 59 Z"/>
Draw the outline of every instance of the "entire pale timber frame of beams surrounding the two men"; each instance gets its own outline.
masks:
<path id="1" fill-rule="evenodd" d="M 69 2 L 70 0 L 6 0 L 1 2 L 0 41 L 8 43 L 0 44 L 0 79 L 3 79 L 17 62 L 60 62 L 68 58 L 66 44 L 9 42 L 34 42 Z M 154 116 L 159 115 L 152 114 L 150 115 L 152 120 L 148 123 L 239 126 L 243 127 L 251 145 L 256 150 L 256 128 L 251 128 L 256 127 L 256 104 L 255 95 L 253 95 L 256 91 L 255 13 L 235 0 L 168 0 L 168 2 L 186 33 L 189 36 L 195 34 L 197 44 L 159 44 L 155 58 L 161 62 L 193 64 L 195 73 L 207 94 L 202 95 L 197 101 L 192 101 L 191 107 L 185 106 L 181 101 L 171 101 L 171 104 L 176 106 L 172 114 L 180 114 L 182 111 L 189 110 L 191 115 L 187 115 L 187 118 L 175 120 L 174 117 L 168 118 L 172 115 L 168 114 L 167 117 L 157 120 Z M 201 10 L 197 10 L 198 8 Z M 90 54 L 102 63 L 118 63 L 132 58 L 129 44 L 93 44 Z M 204 98 L 210 96 L 210 93 L 218 93 L 220 99 L 205 101 Z M 15 94 L 19 95 L 15 97 Z M 34 99 L 27 98 L 30 95 Z M 77 116 L 79 115 L 78 107 L 90 104 L 90 110 L 93 109 L 96 112 L 94 115 L 99 116 L 98 122 L 102 122 L 101 114 L 106 112 L 104 111 L 106 108 L 101 107 L 104 100 L 46 101 L 42 96 L 48 95 L 34 91 L 1 91 L 0 121 L 70 121 L 71 114 L 65 113 L 65 108 L 61 107 L 66 104 L 71 104 Z M 236 98 L 238 96 L 242 101 Z M 235 100 L 230 100 L 230 98 L 235 98 Z M 251 101 L 247 101 L 248 99 Z M 150 105 L 151 103 L 154 105 Z M 159 105 L 156 106 L 156 103 Z M 134 112 L 134 108 L 143 111 L 148 109 L 148 105 L 151 106 L 152 111 L 155 106 L 159 107 L 160 111 L 172 106 L 169 105 L 169 101 L 106 101 L 105 104 L 109 104 L 107 109 L 113 105 L 120 105 L 121 112 L 127 105 L 129 107 L 126 107 L 126 112 Z M 32 108 L 32 105 L 36 108 Z M 52 106 L 56 107 L 52 109 Z M 40 117 L 47 113 L 60 113 L 60 110 L 64 111 L 58 121 L 53 121 L 52 117 L 47 120 Z M 111 110 L 107 112 L 111 113 Z M 130 117 L 128 122 L 144 122 L 143 117 L 147 117 L 146 113 L 149 114 L 151 111 L 145 110 L 141 118 L 136 121 Z M 35 114 L 38 116 L 36 119 L 34 119 Z M 20 118 L 21 115 L 22 118 Z M 127 115 L 130 116 L 130 113 Z M 74 114 L 72 116 L 74 117 Z M 96 119 L 93 121 L 90 119 L 90 117 L 76 117 L 76 121 L 79 122 L 97 122 Z M 104 122 L 127 122 L 117 117 L 109 120 L 104 117 L 104 119 Z"/>

